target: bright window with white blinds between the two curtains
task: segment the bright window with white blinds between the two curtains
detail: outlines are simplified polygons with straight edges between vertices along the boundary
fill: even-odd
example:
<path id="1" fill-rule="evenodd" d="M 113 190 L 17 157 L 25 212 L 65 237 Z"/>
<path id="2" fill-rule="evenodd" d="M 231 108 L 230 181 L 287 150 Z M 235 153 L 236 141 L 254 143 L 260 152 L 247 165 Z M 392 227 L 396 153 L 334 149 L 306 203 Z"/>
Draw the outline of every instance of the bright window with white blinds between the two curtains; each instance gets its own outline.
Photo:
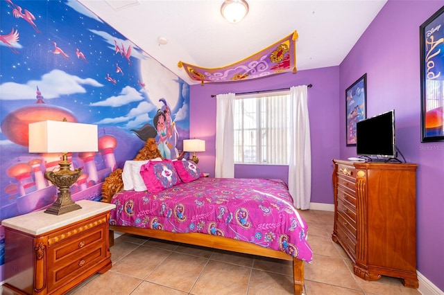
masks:
<path id="1" fill-rule="evenodd" d="M 290 91 L 236 96 L 234 163 L 289 164 Z"/>

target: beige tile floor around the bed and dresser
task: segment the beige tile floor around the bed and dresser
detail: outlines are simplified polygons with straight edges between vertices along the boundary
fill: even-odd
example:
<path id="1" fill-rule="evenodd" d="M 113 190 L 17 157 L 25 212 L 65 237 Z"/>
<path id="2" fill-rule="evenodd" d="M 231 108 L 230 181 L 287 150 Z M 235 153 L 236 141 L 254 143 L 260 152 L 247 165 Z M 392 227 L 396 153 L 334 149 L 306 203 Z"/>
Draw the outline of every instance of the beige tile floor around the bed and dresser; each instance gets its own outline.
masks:
<path id="1" fill-rule="evenodd" d="M 367 282 L 332 242 L 333 212 L 300 211 L 309 225 L 312 264 L 305 263 L 305 294 L 420 294 L 398 278 Z M 112 269 L 69 294 L 293 294 L 291 261 L 121 235 L 111 247 Z"/>

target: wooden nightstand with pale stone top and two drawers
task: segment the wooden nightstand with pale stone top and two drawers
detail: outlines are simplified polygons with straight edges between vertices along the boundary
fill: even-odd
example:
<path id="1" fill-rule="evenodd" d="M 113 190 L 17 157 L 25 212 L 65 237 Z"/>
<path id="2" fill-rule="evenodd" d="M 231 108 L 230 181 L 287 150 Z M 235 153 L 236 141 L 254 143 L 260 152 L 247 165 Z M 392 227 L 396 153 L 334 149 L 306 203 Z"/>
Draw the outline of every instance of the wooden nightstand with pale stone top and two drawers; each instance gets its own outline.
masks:
<path id="1" fill-rule="evenodd" d="M 110 211 L 114 204 L 81 200 L 63 215 L 35 211 L 3 220 L 3 294 L 62 294 L 111 268 Z"/>

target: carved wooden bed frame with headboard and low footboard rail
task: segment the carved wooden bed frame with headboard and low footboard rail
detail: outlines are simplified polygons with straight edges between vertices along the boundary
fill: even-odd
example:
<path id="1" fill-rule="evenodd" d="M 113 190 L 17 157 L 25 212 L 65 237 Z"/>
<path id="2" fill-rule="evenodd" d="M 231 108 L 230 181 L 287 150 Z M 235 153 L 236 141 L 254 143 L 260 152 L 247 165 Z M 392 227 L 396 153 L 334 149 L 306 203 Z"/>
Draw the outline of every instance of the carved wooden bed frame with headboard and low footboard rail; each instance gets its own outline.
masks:
<path id="1" fill-rule="evenodd" d="M 145 146 L 139 150 L 139 154 L 135 157 L 136 161 L 154 159 L 160 156 L 159 150 L 154 138 L 148 138 Z M 123 189 L 123 181 L 121 177 L 122 170 L 117 169 L 111 172 L 102 186 L 102 202 L 110 203 L 112 196 Z M 300 259 L 293 258 L 282 251 L 275 251 L 260 247 L 257 244 L 233 240 L 216 235 L 207 235 L 205 233 L 171 233 L 169 231 L 159 231 L 153 229 L 140 229 L 135 226 L 110 226 L 110 244 L 114 244 L 114 231 L 122 233 L 131 233 L 134 235 L 142 235 L 149 238 L 157 238 L 160 240 L 169 240 L 173 242 L 181 242 L 185 244 L 193 244 L 197 246 L 210 247 L 238 253 L 246 253 L 269 258 L 278 258 L 282 260 L 293 260 L 293 283 L 294 294 L 303 294 L 304 287 L 304 262 Z"/>

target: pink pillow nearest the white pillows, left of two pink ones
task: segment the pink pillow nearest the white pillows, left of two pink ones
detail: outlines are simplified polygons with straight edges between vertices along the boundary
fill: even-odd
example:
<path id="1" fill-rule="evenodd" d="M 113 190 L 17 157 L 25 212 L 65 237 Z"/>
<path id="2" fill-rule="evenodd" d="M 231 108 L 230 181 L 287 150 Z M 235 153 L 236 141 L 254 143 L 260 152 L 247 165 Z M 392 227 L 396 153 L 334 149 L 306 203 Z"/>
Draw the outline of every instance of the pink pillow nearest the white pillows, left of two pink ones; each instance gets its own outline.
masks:
<path id="1" fill-rule="evenodd" d="M 140 175 L 144 179 L 146 190 L 150 193 L 159 193 L 180 183 L 171 160 L 149 161 L 140 168 Z"/>

